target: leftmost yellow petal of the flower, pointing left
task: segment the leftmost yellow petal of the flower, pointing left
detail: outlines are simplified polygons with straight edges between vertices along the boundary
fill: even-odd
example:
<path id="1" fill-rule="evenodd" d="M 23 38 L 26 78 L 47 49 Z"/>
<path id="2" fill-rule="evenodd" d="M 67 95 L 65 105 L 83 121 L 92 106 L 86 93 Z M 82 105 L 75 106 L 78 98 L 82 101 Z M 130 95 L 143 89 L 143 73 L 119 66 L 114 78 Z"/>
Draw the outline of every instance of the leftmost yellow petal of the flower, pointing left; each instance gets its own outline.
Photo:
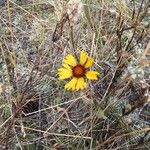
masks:
<path id="1" fill-rule="evenodd" d="M 66 68 L 60 68 L 60 69 L 58 69 L 58 75 L 59 75 L 60 80 L 67 79 L 72 76 L 72 71 L 71 71 L 71 69 L 68 70 Z"/>

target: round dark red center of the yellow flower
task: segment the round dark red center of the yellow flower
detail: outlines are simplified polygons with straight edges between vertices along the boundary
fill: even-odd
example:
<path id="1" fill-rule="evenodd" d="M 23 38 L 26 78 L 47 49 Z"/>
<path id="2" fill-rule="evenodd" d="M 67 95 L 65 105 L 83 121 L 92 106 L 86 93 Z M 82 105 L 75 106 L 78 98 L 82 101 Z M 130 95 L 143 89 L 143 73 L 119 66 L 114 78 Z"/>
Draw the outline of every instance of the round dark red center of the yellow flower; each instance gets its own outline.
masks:
<path id="1" fill-rule="evenodd" d="M 76 78 L 84 77 L 85 76 L 85 68 L 81 64 L 77 64 L 72 68 L 73 76 Z"/>

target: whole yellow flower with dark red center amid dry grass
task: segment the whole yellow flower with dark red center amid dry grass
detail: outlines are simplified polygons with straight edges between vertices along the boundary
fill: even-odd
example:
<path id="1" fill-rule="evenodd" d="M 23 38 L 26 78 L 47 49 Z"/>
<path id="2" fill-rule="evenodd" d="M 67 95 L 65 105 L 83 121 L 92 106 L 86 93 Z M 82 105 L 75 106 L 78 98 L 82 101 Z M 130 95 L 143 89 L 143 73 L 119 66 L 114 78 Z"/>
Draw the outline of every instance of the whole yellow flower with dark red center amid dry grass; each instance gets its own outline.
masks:
<path id="1" fill-rule="evenodd" d="M 58 69 L 58 75 L 60 80 L 64 80 L 72 77 L 72 80 L 65 85 L 67 90 L 82 90 L 86 87 L 84 78 L 90 80 L 97 80 L 99 73 L 97 71 L 88 71 L 94 63 L 93 58 L 82 50 L 80 53 L 79 63 L 73 55 L 68 54 L 63 60 L 63 67 Z"/>

